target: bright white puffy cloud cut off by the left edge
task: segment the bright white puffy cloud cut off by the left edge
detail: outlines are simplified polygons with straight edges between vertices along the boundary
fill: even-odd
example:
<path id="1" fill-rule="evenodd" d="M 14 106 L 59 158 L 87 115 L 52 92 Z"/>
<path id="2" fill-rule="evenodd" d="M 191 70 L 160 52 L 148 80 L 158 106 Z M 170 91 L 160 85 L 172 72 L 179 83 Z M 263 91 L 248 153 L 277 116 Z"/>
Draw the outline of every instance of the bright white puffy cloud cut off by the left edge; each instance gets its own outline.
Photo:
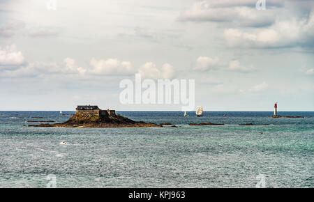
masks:
<path id="1" fill-rule="evenodd" d="M 22 52 L 17 51 L 16 46 L 8 45 L 4 48 L 0 47 L 0 68 L 6 65 L 22 65 L 24 56 Z"/>

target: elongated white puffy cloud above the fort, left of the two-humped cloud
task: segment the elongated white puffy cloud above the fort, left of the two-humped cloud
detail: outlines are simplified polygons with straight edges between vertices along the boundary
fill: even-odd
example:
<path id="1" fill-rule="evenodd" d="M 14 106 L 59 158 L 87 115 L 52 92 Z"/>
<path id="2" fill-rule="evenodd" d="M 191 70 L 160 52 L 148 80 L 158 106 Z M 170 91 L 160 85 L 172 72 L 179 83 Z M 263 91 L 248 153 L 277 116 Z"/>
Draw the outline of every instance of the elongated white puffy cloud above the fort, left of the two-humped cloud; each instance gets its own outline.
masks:
<path id="1" fill-rule="evenodd" d="M 95 75 L 126 75 L 135 72 L 130 62 L 118 61 L 118 59 L 96 60 L 92 58 L 90 64 L 92 69 L 89 72 Z"/>

